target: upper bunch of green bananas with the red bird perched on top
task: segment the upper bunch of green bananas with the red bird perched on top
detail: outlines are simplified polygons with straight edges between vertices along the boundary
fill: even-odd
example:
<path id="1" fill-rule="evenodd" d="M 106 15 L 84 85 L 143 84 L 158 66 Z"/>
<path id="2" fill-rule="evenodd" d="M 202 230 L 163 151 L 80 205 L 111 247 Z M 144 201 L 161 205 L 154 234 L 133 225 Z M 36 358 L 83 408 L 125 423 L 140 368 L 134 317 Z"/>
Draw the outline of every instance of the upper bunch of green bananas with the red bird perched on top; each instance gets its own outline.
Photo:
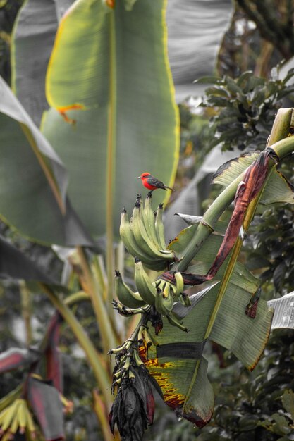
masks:
<path id="1" fill-rule="evenodd" d="M 128 252 L 155 271 L 163 270 L 175 260 L 173 252 L 166 250 L 162 209 L 160 204 L 154 214 L 152 196 L 147 195 L 143 206 L 142 198 L 138 194 L 130 221 L 128 213 L 123 209 L 119 230 Z"/>

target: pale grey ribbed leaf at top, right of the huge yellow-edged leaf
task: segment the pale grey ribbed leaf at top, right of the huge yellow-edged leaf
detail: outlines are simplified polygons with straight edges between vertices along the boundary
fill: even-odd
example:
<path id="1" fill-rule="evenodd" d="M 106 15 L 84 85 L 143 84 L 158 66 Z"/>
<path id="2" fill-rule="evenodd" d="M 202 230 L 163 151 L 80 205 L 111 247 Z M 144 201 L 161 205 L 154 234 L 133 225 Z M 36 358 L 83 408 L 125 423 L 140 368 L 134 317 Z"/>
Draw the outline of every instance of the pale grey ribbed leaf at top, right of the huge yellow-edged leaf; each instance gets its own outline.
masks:
<path id="1" fill-rule="evenodd" d="M 232 12 L 231 0 L 168 1 L 169 59 L 178 102 L 203 94 L 207 85 L 193 81 L 214 73 Z"/>

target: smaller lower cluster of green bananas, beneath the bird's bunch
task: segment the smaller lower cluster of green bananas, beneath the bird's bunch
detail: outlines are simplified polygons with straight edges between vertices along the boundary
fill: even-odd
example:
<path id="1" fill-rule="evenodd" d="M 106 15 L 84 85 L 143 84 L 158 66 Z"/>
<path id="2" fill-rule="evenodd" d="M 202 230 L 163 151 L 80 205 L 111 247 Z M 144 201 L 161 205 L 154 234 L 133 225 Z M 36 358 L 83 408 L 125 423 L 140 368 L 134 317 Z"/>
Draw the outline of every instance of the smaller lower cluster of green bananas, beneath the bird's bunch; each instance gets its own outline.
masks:
<path id="1" fill-rule="evenodd" d="M 180 273 L 175 273 L 175 278 L 176 285 L 166 282 L 166 280 L 158 280 L 152 283 L 142 262 L 135 261 L 135 284 L 140 297 L 145 303 L 154 306 L 161 315 L 166 316 L 171 325 L 187 331 L 187 328 L 178 321 L 172 312 L 174 299 L 186 299 L 186 296 L 182 293 L 184 288 L 183 276 Z"/>

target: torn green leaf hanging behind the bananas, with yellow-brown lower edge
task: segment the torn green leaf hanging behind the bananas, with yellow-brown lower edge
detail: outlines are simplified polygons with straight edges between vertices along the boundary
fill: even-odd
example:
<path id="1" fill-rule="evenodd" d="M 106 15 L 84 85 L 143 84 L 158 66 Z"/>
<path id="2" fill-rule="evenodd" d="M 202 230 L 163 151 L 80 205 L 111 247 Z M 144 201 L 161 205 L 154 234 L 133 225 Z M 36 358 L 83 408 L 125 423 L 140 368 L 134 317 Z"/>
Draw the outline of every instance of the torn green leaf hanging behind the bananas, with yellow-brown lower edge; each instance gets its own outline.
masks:
<path id="1" fill-rule="evenodd" d="M 196 230 L 197 225 L 186 228 L 170 247 L 182 249 L 191 232 L 195 234 Z M 222 240 L 221 236 L 210 235 L 187 272 L 207 273 Z M 243 263 L 234 261 L 232 269 L 231 259 L 232 254 L 216 273 L 210 289 L 195 294 L 195 302 L 192 297 L 192 307 L 186 309 L 177 304 L 174 308 L 176 316 L 183 319 L 183 325 L 190 332 L 184 334 L 164 319 L 161 334 L 154 336 L 159 343 L 157 353 L 149 355 L 147 361 L 150 373 L 163 388 L 167 404 L 200 427 L 209 421 L 214 406 L 207 363 L 202 356 L 205 341 L 213 340 L 230 349 L 247 368 L 252 369 L 271 330 L 273 311 L 263 299 L 258 301 L 255 316 L 246 313 L 248 305 L 255 299 L 252 296 L 259 288 L 259 281 Z"/>

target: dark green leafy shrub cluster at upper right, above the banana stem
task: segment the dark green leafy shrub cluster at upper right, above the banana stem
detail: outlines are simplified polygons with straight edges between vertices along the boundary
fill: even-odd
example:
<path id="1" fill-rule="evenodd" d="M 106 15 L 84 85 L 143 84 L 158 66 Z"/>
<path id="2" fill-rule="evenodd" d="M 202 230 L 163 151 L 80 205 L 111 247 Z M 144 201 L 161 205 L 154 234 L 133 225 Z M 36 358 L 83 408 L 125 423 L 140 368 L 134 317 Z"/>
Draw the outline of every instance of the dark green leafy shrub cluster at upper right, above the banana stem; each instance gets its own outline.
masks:
<path id="1" fill-rule="evenodd" d="M 263 150 L 276 111 L 282 100 L 294 92 L 294 85 L 288 85 L 293 75 L 294 70 L 284 80 L 265 80 L 252 72 L 245 72 L 236 80 L 215 77 L 215 84 L 206 90 L 202 103 L 214 108 L 209 146 L 221 143 L 223 150 Z"/>

